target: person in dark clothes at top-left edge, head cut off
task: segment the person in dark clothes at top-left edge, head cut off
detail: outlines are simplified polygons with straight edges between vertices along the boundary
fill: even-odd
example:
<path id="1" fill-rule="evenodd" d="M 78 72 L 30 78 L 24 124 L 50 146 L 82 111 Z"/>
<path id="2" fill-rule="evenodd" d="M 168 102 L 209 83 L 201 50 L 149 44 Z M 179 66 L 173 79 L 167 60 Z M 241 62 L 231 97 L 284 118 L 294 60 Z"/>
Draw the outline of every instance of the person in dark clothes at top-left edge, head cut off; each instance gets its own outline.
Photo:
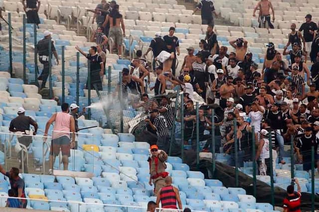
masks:
<path id="1" fill-rule="evenodd" d="M 26 1 L 26 4 L 25 4 Z M 38 25 L 40 23 L 40 18 L 38 15 L 38 11 L 40 8 L 39 0 L 22 0 L 23 10 L 26 13 L 26 22 L 27 23 L 35 23 Z"/>

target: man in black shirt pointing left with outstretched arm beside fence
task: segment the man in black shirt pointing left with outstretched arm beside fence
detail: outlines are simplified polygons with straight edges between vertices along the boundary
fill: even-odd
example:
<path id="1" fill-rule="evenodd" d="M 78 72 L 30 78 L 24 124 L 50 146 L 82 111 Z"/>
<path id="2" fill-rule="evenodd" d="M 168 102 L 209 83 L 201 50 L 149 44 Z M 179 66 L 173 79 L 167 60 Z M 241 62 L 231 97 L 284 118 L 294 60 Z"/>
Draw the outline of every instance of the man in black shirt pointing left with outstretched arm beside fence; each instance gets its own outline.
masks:
<path id="1" fill-rule="evenodd" d="M 104 74 L 104 64 L 101 56 L 97 53 L 96 46 L 91 46 L 89 54 L 86 54 L 78 46 L 75 49 L 90 61 L 91 90 L 96 89 L 95 85 L 99 91 L 102 91 L 101 76 Z M 88 89 L 88 82 L 86 83 L 86 89 Z"/>

